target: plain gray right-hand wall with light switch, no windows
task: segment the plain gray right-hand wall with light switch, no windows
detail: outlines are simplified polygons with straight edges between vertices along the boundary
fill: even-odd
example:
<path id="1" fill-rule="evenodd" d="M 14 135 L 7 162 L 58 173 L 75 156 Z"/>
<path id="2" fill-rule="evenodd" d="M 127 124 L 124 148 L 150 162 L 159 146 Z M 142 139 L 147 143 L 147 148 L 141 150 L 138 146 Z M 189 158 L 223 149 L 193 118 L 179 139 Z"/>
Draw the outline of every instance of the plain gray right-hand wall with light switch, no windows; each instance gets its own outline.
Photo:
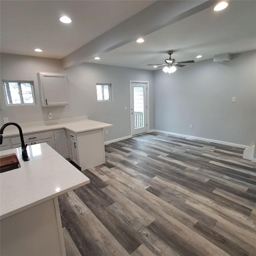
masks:
<path id="1" fill-rule="evenodd" d="M 155 71 L 155 129 L 244 145 L 254 141 L 256 51 L 232 57 L 187 64 L 170 78 Z"/>

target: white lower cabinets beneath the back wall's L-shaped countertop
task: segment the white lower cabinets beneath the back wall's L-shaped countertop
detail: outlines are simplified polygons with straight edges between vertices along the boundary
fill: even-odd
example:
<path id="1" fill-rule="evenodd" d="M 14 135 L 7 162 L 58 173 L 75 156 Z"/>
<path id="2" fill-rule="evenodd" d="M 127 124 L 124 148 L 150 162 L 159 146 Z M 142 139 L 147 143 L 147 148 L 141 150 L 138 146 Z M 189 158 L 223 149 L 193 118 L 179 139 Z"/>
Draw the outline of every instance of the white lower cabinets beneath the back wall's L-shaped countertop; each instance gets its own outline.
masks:
<path id="1" fill-rule="evenodd" d="M 64 158 L 70 158 L 81 170 L 105 163 L 102 128 L 74 133 L 67 129 L 50 130 L 24 135 L 28 145 L 46 142 Z M 21 147 L 20 136 L 3 139 L 0 150 Z"/>

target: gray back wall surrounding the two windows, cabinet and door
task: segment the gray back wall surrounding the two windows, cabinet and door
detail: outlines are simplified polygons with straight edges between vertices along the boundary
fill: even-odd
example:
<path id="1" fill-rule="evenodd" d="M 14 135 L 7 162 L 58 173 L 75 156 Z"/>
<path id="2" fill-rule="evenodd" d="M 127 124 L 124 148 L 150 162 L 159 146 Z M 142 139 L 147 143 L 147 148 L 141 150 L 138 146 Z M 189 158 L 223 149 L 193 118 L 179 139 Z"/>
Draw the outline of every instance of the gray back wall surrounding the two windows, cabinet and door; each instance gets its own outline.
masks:
<path id="1" fill-rule="evenodd" d="M 70 105 L 41 106 L 36 77 L 38 72 L 62 72 L 68 75 Z M 152 71 L 87 63 L 63 70 L 61 60 L 1 54 L 1 80 L 34 81 L 37 102 L 35 106 L 6 106 L 1 86 L 1 123 L 3 117 L 18 123 L 48 120 L 48 112 L 52 112 L 53 119 L 88 115 L 89 119 L 114 125 L 108 128 L 108 134 L 104 135 L 105 141 L 131 134 L 129 80 L 149 81 L 149 127 L 154 129 Z M 112 84 L 111 102 L 97 102 L 96 83 Z M 124 109 L 125 106 L 127 110 Z"/>

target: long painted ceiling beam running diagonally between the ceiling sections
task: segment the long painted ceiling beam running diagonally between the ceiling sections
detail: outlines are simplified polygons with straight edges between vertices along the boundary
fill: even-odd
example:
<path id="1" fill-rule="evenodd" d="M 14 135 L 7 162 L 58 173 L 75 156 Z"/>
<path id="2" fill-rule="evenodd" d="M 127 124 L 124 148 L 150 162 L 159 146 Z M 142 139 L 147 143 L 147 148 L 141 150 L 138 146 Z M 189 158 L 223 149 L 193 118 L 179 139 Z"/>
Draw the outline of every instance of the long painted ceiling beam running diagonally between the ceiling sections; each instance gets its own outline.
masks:
<path id="1" fill-rule="evenodd" d="M 62 59 L 63 68 L 86 62 L 216 4 L 216 0 L 156 1 Z M 110 17 L 111 18 L 111 17 Z M 81 31 L 82 33 L 82 31 Z M 74 39 L 75 40 L 75 39 Z"/>

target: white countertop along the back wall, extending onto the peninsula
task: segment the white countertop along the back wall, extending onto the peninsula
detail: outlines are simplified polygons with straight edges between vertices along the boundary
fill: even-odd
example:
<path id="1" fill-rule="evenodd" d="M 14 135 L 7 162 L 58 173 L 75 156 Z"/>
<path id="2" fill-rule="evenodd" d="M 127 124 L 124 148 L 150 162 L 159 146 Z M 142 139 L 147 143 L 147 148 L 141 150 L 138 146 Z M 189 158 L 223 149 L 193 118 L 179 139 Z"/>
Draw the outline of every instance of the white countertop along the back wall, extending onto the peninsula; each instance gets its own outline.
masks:
<path id="1" fill-rule="evenodd" d="M 112 124 L 107 124 L 107 123 L 102 123 L 94 120 L 79 120 L 79 121 L 71 121 L 71 122 L 65 122 L 64 119 L 62 119 L 62 122 L 59 122 L 58 124 L 54 124 L 54 120 L 50 124 L 39 124 L 39 122 L 30 123 L 30 126 L 24 126 L 20 124 L 22 127 L 22 132 L 23 134 L 28 134 L 32 132 L 43 132 L 47 130 L 56 130 L 56 129 L 62 129 L 65 128 L 67 130 L 70 130 L 71 132 L 86 132 L 86 131 L 91 131 L 91 130 L 97 130 L 101 128 L 106 128 L 112 126 Z M 58 120 L 56 120 L 58 122 Z M 24 123 L 26 124 L 26 123 Z M 4 138 L 7 136 L 16 136 L 19 135 L 18 128 L 14 126 L 7 126 L 4 129 L 3 136 Z"/>

